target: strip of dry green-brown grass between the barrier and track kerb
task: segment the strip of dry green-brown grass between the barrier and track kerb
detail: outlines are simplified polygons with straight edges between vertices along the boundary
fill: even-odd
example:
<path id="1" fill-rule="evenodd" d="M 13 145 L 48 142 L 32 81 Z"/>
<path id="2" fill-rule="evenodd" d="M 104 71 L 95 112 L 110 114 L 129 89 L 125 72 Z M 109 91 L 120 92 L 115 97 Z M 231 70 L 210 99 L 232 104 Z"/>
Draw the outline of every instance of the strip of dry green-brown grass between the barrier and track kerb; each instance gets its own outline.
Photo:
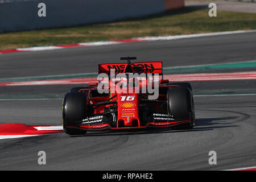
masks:
<path id="1" fill-rule="evenodd" d="M 114 23 L 5 33 L 0 34 L 0 49 L 256 29 L 256 14 L 218 11 L 210 18 L 208 11 L 185 8 Z"/>

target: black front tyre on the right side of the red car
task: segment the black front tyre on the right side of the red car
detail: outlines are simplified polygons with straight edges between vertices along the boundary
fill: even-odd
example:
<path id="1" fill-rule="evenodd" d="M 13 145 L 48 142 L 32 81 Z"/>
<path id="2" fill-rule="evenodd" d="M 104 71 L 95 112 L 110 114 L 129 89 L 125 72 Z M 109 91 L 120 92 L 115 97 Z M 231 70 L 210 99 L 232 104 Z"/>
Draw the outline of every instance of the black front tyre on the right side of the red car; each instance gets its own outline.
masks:
<path id="1" fill-rule="evenodd" d="M 168 114 L 175 119 L 192 120 L 189 123 L 173 126 L 173 129 L 192 129 L 195 125 L 195 109 L 191 89 L 187 87 L 174 87 L 167 91 Z"/>

